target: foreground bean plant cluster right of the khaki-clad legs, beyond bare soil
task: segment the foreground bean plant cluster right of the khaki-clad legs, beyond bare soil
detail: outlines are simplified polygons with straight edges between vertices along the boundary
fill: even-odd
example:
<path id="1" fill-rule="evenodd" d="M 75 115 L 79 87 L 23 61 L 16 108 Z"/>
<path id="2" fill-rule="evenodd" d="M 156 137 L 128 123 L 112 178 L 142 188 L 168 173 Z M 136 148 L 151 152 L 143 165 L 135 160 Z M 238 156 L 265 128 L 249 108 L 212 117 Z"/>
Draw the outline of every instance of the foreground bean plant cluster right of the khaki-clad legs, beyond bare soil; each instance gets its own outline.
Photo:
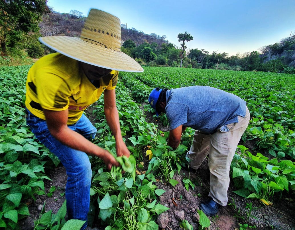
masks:
<path id="1" fill-rule="evenodd" d="M 235 154 L 231 164 L 232 178 L 245 198 L 269 200 L 275 192 L 295 190 L 295 163 L 289 160 L 269 159 L 260 153 L 256 156 L 238 146 L 241 154 Z"/>

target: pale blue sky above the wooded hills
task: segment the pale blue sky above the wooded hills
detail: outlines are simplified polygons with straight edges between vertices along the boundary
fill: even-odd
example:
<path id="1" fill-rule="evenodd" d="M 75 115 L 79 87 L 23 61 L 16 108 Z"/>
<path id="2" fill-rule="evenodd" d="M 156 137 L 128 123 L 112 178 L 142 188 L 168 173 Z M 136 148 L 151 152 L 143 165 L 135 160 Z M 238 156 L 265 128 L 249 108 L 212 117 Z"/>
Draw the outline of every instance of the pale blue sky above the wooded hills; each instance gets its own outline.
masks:
<path id="1" fill-rule="evenodd" d="M 85 16 L 90 8 L 104 10 L 127 28 L 166 35 L 178 47 L 177 35 L 186 31 L 194 38 L 187 49 L 204 48 L 210 54 L 259 51 L 295 33 L 295 0 L 48 0 L 47 5 Z"/>

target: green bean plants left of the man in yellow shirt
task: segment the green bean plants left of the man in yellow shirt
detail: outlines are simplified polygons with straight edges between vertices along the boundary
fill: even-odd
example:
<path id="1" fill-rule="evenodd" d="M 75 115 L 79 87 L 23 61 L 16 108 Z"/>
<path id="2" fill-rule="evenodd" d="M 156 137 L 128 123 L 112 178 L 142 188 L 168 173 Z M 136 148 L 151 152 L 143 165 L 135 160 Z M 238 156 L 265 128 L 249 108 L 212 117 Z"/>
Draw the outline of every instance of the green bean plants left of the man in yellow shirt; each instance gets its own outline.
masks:
<path id="1" fill-rule="evenodd" d="M 33 138 L 24 119 L 24 86 L 29 68 L 0 68 L 0 227 L 5 229 L 19 228 L 18 221 L 30 215 L 25 201 L 44 195 L 43 180 L 50 180 L 45 175 L 44 159 L 51 153 Z"/>

